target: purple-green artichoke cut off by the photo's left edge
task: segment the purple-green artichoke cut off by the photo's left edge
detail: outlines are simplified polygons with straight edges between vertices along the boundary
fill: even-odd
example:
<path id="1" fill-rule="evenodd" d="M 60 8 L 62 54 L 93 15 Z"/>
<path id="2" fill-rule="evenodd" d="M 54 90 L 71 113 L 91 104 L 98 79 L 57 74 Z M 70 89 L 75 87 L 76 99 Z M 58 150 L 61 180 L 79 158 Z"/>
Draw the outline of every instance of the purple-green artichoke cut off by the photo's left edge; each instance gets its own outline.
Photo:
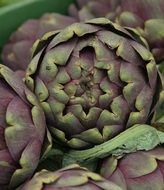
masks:
<path id="1" fill-rule="evenodd" d="M 25 182 L 39 163 L 46 124 L 39 104 L 31 104 L 34 100 L 20 74 L 0 65 L 1 190 Z"/>

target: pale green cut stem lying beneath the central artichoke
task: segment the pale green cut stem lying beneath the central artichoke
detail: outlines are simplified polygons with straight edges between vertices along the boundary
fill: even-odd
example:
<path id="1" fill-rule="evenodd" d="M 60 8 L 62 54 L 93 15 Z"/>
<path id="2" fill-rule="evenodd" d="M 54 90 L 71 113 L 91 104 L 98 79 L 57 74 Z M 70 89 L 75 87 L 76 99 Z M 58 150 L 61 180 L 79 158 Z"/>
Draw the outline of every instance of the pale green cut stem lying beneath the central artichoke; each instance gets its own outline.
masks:
<path id="1" fill-rule="evenodd" d="M 121 155 L 137 150 L 151 150 L 164 143 L 164 133 L 149 125 L 134 125 L 115 138 L 88 150 L 71 150 L 64 155 L 63 165 L 88 163 L 111 154 Z"/>

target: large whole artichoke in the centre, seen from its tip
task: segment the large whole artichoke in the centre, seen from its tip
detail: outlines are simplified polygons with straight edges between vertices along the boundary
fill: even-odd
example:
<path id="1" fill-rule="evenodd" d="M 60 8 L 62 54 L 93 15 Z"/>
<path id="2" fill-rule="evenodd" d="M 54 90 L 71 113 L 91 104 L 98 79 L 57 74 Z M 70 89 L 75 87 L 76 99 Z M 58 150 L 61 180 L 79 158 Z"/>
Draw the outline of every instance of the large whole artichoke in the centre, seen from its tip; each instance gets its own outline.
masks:
<path id="1" fill-rule="evenodd" d="M 106 18 L 74 23 L 34 47 L 26 85 L 61 143 L 92 147 L 148 121 L 156 64 L 122 27 Z"/>

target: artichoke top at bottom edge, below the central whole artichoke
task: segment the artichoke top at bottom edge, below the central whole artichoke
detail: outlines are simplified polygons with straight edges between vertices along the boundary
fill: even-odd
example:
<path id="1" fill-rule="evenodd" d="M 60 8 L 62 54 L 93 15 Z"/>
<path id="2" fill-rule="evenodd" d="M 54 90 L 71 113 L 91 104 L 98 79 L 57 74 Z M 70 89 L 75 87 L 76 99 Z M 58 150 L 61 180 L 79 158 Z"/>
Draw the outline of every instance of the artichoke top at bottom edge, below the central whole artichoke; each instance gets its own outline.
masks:
<path id="1" fill-rule="evenodd" d="M 122 190 L 119 186 L 78 165 L 56 172 L 42 170 L 19 190 Z"/>

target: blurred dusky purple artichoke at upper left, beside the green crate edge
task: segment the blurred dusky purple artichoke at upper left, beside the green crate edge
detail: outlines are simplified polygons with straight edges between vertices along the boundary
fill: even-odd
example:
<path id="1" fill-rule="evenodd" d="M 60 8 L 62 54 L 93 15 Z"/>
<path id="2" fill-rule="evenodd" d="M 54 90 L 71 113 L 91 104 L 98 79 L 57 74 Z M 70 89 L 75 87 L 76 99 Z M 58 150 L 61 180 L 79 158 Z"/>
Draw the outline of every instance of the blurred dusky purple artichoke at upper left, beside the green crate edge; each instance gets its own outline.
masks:
<path id="1" fill-rule="evenodd" d="M 11 35 L 9 42 L 4 46 L 3 63 L 13 70 L 26 70 L 35 40 L 46 32 L 62 29 L 75 21 L 74 18 L 55 13 L 47 13 L 38 20 L 26 21 Z"/>

